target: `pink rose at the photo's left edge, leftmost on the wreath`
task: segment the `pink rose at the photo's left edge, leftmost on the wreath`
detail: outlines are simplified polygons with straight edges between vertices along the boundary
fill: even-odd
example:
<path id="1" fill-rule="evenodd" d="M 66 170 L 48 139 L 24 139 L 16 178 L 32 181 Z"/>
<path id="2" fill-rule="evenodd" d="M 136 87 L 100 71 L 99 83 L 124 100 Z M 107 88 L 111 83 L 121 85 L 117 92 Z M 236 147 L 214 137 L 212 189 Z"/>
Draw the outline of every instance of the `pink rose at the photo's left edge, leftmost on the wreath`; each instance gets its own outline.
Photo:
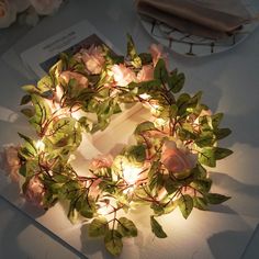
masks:
<path id="1" fill-rule="evenodd" d="M 1 155 L 1 169 L 4 170 L 13 182 L 19 181 L 19 169 L 21 167 L 20 158 L 18 157 L 19 147 L 13 145 L 4 146 Z"/>

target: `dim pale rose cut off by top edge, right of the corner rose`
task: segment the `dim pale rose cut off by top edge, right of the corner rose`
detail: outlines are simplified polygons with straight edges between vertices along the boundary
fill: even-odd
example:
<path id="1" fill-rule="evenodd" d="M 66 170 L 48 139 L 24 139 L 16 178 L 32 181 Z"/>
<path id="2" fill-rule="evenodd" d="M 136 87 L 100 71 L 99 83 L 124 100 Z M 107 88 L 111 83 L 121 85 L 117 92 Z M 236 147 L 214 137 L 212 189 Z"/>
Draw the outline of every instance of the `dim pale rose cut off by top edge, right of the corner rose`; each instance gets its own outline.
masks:
<path id="1" fill-rule="evenodd" d="M 48 15 L 59 8 L 63 0 L 30 0 L 30 2 L 38 14 Z"/>

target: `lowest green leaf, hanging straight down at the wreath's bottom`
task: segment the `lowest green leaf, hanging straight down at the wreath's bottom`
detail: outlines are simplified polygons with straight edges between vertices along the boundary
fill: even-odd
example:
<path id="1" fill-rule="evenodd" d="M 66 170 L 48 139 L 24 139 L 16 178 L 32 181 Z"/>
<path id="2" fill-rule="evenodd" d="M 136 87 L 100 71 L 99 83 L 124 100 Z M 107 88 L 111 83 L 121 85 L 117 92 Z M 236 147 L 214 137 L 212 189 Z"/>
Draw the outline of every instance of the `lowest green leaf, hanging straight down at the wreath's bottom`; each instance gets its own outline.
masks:
<path id="1" fill-rule="evenodd" d="M 104 236 L 104 244 L 108 251 L 113 256 L 120 256 L 123 248 L 122 235 L 117 230 L 109 230 Z"/>

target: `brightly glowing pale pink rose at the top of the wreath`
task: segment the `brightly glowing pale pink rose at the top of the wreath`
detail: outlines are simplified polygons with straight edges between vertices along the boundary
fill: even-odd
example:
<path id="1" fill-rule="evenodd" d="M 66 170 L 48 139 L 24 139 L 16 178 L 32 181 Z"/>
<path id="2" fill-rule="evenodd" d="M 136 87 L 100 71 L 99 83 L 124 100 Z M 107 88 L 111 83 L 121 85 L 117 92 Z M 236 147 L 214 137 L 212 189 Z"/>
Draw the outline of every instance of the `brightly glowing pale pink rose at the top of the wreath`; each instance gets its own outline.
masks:
<path id="1" fill-rule="evenodd" d="M 113 65 L 112 72 L 119 87 L 126 87 L 130 82 L 136 81 L 135 72 L 122 64 Z"/>

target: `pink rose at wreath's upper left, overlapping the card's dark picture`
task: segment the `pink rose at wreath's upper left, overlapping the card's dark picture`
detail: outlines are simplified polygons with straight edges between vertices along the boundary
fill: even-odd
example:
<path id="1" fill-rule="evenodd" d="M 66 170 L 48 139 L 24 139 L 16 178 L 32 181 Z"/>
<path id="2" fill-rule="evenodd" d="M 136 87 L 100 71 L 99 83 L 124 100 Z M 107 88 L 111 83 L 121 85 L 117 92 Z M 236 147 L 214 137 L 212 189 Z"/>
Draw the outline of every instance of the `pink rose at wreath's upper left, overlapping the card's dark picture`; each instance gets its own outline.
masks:
<path id="1" fill-rule="evenodd" d="M 81 49 L 79 57 L 86 64 L 87 69 L 91 74 L 100 74 L 104 65 L 103 52 L 100 46 L 92 45 L 89 49 Z"/>

